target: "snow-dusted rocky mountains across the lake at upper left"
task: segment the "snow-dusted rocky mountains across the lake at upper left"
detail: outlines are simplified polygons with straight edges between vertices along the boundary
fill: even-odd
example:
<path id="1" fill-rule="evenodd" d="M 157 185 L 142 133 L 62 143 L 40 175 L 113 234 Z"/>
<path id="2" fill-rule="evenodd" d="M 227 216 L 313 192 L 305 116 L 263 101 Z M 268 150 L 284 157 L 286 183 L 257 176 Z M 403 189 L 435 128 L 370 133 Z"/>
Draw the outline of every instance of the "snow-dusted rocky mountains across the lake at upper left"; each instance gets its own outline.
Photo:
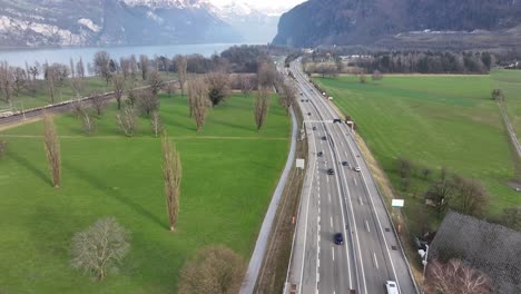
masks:
<path id="1" fill-rule="evenodd" d="M 240 42 L 204 0 L 0 0 L 0 46 Z"/>

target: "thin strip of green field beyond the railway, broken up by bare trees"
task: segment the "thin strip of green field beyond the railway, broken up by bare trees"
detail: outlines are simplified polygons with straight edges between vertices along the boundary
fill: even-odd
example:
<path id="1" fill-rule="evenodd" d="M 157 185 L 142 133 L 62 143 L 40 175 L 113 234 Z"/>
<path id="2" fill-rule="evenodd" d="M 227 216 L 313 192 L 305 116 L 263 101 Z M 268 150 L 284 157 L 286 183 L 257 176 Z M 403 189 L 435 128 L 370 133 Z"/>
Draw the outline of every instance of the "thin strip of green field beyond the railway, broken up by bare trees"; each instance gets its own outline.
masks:
<path id="1" fill-rule="evenodd" d="M 176 77 L 175 74 L 171 72 L 160 72 L 164 80 L 170 80 Z M 86 77 L 83 79 L 85 86 L 81 91 L 81 97 L 89 96 L 91 91 L 99 90 L 101 92 L 114 91 L 114 87 L 104 79 L 98 77 Z M 135 87 L 144 86 L 146 81 L 140 79 L 140 72 L 138 72 L 137 80 L 135 82 Z M 36 81 L 36 92 L 29 92 L 27 89 L 22 89 L 18 97 L 12 96 L 12 108 L 16 110 L 29 109 L 40 106 L 50 105 L 50 96 L 47 82 L 43 80 Z M 132 86 L 130 78 L 126 80 L 126 89 L 129 89 Z M 61 85 L 56 82 L 55 87 L 55 102 L 66 101 L 70 99 L 75 99 L 76 94 L 71 87 L 70 80 L 63 81 Z M 3 97 L 0 98 L 0 111 L 10 109 L 11 105 L 7 104 L 3 100 Z"/>

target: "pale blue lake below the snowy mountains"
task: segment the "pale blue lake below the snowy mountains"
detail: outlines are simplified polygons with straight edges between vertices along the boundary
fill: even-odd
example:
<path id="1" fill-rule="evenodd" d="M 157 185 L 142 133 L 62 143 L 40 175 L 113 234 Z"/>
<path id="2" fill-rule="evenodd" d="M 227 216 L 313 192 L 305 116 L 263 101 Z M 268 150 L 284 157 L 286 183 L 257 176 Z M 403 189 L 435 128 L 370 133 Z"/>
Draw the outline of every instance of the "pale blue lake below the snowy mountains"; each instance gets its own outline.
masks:
<path id="1" fill-rule="evenodd" d="M 45 63 L 59 62 L 69 65 L 70 58 L 78 62 L 80 57 L 83 63 L 92 62 L 94 55 L 99 50 L 106 50 L 110 57 L 119 61 L 120 57 L 130 55 L 147 55 L 174 57 L 175 55 L 199 53 L 206 57 L 220 53 L 235 43 L 201 43 L 201 45 L 168 45 L 168 46 L 121 46 L 121 47 L 85 47 L 85 48 L 45 48 L 45 49 L 7 49 L 0 50 L 0 61 L 8 61 L 11 66 L 26 67 L 26 61 L 33 65 L 36 61 Z"/>

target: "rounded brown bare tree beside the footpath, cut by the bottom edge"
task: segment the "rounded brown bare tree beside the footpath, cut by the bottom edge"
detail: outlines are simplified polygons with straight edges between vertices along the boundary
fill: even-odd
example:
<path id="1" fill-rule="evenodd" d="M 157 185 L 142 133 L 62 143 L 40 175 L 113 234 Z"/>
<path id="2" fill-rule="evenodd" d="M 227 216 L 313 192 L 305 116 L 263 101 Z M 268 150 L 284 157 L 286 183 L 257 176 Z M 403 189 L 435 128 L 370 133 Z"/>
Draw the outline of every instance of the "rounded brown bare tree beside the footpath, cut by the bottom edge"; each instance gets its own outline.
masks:
<path id="1" fill-rule="evenodd" d="M 199 251 L 181 271 L 179 294 L 235 294 L 240 290 L 246 266 L 229 248 L 212 246 Z"/>

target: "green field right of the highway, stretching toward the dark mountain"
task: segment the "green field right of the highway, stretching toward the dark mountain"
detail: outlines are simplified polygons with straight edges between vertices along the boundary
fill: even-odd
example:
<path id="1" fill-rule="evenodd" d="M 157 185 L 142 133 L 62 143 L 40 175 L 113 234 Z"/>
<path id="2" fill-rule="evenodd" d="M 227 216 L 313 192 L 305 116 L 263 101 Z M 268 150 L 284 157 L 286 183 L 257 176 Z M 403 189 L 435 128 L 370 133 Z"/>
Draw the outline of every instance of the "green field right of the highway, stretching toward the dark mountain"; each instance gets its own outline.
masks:
<path id="1" fill-rule="evenodd" d="M 354 118 L 395 192 L 400 193 L 396 158 L 402 156 L 423 167 L 446 166 L 479 178 L 491 195 L 491 215 L 521 204 L 521 195 L 508 186 L 515 177 L 513 154 L 491 99 L 490 76 L 386 76 L 365 85 L 356 77 L 316 81 Z M 401 195 L 409 216 L 426 209 L 422 195 L 429 184 L 413 180 L 412 192 Z"/>

